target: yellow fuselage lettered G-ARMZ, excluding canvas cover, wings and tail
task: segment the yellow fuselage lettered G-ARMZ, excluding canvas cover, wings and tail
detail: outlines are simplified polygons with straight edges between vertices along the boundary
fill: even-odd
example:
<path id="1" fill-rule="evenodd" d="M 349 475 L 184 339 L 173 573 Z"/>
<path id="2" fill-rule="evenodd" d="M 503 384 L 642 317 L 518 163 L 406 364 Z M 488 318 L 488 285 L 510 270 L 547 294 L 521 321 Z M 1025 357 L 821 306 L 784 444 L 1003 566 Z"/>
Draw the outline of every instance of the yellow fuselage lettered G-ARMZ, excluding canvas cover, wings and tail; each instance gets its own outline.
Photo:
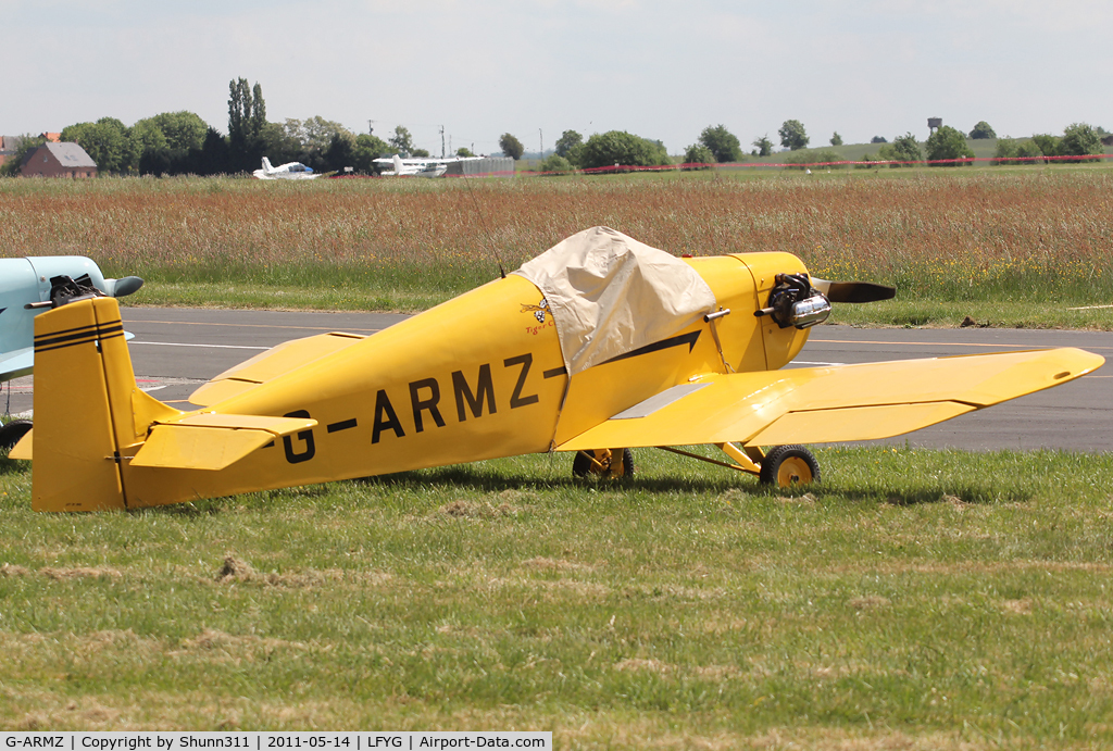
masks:
<path id="1" fill-rule="evenodd" d="M 264 383 L 232 373 L 201 412 L 309 417 L 316 427 L 219 472 L 132 467 L 121 452 L 127 505 L 546 452 L 664 388 L 701 374 L 777 369 L 804 346 L 806 329 L 754 315 L 778 273 L 804 270 L 798 258 L 687 263 L 731 313 L 572 378 L 542 293 L 516 275 Z"/>

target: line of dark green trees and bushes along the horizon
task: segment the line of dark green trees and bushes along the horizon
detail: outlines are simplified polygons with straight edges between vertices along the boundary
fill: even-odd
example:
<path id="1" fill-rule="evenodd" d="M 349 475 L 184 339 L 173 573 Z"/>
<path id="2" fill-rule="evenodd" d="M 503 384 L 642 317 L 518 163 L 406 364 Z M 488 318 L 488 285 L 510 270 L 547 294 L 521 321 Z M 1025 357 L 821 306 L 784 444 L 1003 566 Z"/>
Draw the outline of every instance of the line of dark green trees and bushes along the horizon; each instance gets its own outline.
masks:
<path id="1" fill-rule="evenodd" d="M 785 157 L 788 164 L 840 161 L 834 149 L 808 150 L 810 138 L 799 120 L 786 120 L 777 135 L 780 145 L 792 154 Z M 1047 157 L 1084 157 L 1102 154 L 1103 128 L 1084 122 L 1067 126 L 1062 136 L 1042 134 L 1025 140 L 1001 139 L 994 164 L 1018 164 Z M 978 122 L 969 134 L 943 126 L 934 129 L 922 145 L 910 134 L 898 136 L 889 142 L 875 136 L 878 152 L 867 154 L 861 161 L 908 162 L 953 160 L 973 157 L 967 139 L 996 138 L 992 126 Z M 400 154 L 403 157 L 429 157 L 417 148 L 410 131 L 398 126 L 383 140 L 373 134 L 353 134 L 338 122 L 322 117 L 307 120 L 287 118 L 284 122 L 267 120 L 266 101 L 258 82 L 249 87 L 244 78 L 228 82 L 228 134 L 224 135 L 193 112 L 164 112 L 139 120 L 130 128 L 116 118 L 105 117 L 96 122 L 78 122 L 61 131 L 61 140 L 79 144 L 97 162 L 101 174 L 116 175 L 224 175 L 258 169 L 262 158 L 273 164 L 299 161 L 317 172 L 339 171 L 352 168 L 359 174 L 374 174 L 374 160 Z M 6 174 L 16 174 L 23 155 L 42 144 L 41 137 L 24 136 L 14 158 L 2 167 Z M 836 131 L 831 147 L 843 145 Z M 503 154 L 521 159 L 522 142 L 512 134 L 499 139 Z M 696 144 L 684 150 L 688 165 L 715 165 L 743 161 L 747 156 L 767 157 L 774 152 L 774 142 L 765 134 L 751 142 L 749 155 L 741 141 L 726 126 L 708 126 Z M 474 156 L 466 148 L 456 156 Z M 623 167 L 656 167 L 673 164 L 664 145 L 659 140 L 642 138 L 623 131 L 610 130 L 594 134 L 584 140 L 575 130 L 565 130 L 556 141 L 553 154 L 544 159 L 544 172 Z"/>

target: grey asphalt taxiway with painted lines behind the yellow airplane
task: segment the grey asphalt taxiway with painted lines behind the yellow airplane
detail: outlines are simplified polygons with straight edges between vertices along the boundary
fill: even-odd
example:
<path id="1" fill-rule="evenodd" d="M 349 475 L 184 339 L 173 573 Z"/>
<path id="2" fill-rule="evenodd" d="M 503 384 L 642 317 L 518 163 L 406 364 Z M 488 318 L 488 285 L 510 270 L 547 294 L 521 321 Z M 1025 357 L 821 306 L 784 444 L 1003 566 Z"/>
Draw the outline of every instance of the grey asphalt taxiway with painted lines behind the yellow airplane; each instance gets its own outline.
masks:
<path id="1" fill-rule="evenodd" d="M 121 308 L 140 387 L 181 409 L 209 378 L 294 338 L 326 332 L 373 334 L 398 314 Z M 1113 359 L 1113 333 L 996 328 L 853 328 L 817 326 L 794 366 L 944 357 L 1073 346 Z M 0 407 L 31 408 L 32 381 L 0 389 Z M 79 407 L 75 405 L 75 408 Z M 1113 365 L 1037 394 L 884 442 L 968 449 L 1113 451 Z"/>

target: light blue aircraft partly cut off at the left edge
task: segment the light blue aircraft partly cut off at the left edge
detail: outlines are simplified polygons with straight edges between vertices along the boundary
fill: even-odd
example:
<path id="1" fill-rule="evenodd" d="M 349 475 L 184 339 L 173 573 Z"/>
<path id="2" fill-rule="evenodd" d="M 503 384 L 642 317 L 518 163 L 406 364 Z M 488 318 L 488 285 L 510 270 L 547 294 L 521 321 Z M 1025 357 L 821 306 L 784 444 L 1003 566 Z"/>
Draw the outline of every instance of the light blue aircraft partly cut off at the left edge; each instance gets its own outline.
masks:
<path id="1" fill-rule="evenodd" d="M 67 285 L 59 277 L 72 281 Z M 27 375 L 35 367 L 35 316 L 50 309 L 52 293 L 70 296 L 81 287 L 95 287 L 110 297 L 124 297 L 141 286 L 137 276 L 106 279 L 85 256 L 0 258 L 0 382 Z M 16 445 L 30 426 L 29 421 L 16 419 L 0 427 L 0 449 Z"/>

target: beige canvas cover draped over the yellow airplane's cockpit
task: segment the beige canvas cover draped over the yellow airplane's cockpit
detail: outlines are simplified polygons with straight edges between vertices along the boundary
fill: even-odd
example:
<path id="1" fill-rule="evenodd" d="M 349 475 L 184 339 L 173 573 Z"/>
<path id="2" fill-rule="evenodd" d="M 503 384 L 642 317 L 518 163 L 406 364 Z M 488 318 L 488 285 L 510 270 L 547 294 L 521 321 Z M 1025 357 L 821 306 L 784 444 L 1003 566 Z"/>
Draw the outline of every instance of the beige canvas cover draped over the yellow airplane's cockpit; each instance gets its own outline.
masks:
<path id="1" fill-rule="evenodd" d="M 716 308 L 691 266 L 610 227 L 577 233 L 514 274 L 544 294 L 569 375 L 666 339 Z"/>

